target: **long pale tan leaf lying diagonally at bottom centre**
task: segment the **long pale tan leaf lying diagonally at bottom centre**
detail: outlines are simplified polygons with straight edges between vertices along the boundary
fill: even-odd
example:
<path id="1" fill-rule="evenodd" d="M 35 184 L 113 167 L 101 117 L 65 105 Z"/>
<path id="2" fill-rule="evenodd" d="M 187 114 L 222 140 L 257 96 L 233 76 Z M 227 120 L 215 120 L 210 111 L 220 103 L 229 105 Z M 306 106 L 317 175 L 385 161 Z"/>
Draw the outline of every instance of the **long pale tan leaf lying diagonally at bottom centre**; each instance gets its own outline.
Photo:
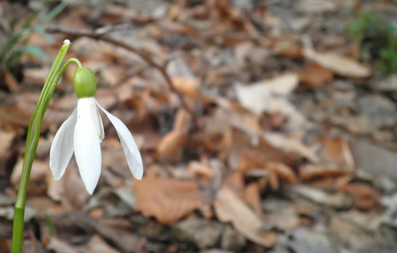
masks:
<path id="1" fill-rule="evenodd" d="M 216 195 L 215 213 L 221 222 L 231 222 L 249 240 L 265 247 L 276 244 L 276 232 L 261 232 L 262 220 L 231 189 L 224 187 Z"/>

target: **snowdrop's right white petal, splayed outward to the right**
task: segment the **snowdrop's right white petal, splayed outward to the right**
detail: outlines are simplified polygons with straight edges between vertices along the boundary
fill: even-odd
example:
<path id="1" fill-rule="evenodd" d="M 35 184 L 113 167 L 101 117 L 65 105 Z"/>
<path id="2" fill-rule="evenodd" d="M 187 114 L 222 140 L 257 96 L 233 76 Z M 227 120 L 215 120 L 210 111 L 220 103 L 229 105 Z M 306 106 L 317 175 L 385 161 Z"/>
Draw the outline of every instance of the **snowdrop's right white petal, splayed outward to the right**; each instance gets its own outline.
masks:
<path id="1" fill-rule="evenodd" d="M 96 100 L 95 102 L 96 105 L 98 105 L 98 107 L 104 111 L 116 128 L 117 134 L 120 138 L 121 146 L 123 146 L 125 156 L 127 157 L 128 167 L 131 170 L 133 176 L 141 180 L 143 175 L 142 157 L 131 132 L 129 132 L 127 126 L 125 126 L 121 120 L 106 111 L 102 106 L 100 106 L 100 104 L 98 104 Z"/>

